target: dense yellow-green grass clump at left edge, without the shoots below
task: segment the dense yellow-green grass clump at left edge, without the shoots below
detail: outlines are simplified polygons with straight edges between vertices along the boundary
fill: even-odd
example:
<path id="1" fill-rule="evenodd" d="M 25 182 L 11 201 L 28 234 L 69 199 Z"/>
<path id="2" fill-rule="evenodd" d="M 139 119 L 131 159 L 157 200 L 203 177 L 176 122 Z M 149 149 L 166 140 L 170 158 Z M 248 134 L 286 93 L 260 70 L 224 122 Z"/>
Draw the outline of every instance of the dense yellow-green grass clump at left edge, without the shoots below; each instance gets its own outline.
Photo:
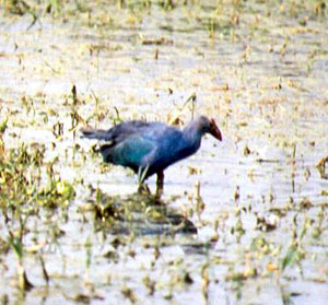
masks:
<path id="1" fill-rule="evenodd" d="M 55 177 L 48 172 L 48 183 L 43 181 L 44 146 L 26 146 L 5 150 L 0 144 L 0 209 L 5 213 L 20 208 L 67 207 L 75 191 L 69 181 Z M 45 186 L 44 186 L 45 185 Z M 25 209 L 24 209 L 25 210 Z"/>

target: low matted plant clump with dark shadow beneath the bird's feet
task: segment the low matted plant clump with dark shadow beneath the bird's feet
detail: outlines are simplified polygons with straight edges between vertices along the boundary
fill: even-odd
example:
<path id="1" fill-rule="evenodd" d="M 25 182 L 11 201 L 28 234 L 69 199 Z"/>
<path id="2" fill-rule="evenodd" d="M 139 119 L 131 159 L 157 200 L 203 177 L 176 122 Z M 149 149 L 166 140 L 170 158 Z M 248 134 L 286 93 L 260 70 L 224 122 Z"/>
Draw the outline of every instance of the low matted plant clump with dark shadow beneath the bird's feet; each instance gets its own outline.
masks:
<path id="1" fill-rule="evenodd" d="M 95 202 L 81 207 L 81 212 L 94 213 L 96 231 L 110 234 L 142 236 L 163 234 L 196 234 L 197 228 L 187 216 L 169 209 L 156 195 L 139 189 L 126 198 L 110 197 L 95 190 Z"/>

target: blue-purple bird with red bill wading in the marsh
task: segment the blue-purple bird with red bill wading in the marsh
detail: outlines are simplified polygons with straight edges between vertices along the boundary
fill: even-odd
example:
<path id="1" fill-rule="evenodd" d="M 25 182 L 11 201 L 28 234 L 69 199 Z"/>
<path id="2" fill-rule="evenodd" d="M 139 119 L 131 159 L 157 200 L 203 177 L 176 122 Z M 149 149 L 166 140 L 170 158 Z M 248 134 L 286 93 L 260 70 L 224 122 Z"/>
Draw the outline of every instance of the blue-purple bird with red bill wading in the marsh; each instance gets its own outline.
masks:
<path id="1" fill-rule="evenodd" d="M 163 122 L 131 120 L 109 130 L 81 129 L 82 138 L 105 141 L 97 152 L 105 163 L 131 168 L 139 183 L 156 174 L 157 191 L 163 191 L 164 171 L 172 164 L 195 154 L 201 138 L 210 133 L 222 141 L 222 133 L 213 118 L 199 116 L 184 129 Z"/>

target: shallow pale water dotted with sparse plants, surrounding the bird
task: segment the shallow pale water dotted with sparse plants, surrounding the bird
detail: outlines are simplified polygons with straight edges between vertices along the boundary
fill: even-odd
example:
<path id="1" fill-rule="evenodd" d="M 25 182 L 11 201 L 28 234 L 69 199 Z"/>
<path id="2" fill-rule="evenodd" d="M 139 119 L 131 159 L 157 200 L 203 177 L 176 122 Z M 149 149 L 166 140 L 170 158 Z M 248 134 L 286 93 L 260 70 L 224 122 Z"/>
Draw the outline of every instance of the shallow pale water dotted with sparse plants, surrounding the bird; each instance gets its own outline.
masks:
<path id="1" fill-rule="evenodd" d="M 77 193 L 28 218 L 23 263 L 34 289 L 17 288 L 15 256 L 1 253 L 3 304 L 327 304 L 328 174 L 316 167 L 328 153 L 327 16 L 270 5 L 226 3 L 213 31 L 212 8 L 197 4 L 90 4 L 30 30 L 28 15 L 1 12 L 5 146 L 43 143 Z M 72 130 L 75 113 L 77 129 L 110 127 L 115 107 L 124 120 L 177 115 L 183 125 L 192 93 L 195 115 L 214 117 L 224 140 L 204 138 L 166 171 L 164 207 L 134 195 L 130 172 L 102 167 Z M 95 218 L 106 202 L 120 219 Z"/>

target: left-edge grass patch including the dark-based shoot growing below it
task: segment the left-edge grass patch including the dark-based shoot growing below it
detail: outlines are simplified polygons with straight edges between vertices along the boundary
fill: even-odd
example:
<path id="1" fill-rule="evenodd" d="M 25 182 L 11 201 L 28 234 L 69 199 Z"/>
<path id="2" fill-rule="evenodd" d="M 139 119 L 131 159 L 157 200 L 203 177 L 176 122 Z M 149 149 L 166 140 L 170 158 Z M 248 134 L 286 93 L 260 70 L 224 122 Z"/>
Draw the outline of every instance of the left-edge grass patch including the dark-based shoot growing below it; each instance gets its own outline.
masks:
<path id="1" fill-rule="evenodd" d="M 0 134 L 0 210 L 5 227 L 1 232 L 2 253 L 7 251 L 7 239 L 16 257 L 17 288 L 22 291 L 34 286 L 23 262 L 30 218 L 42 218 L 43 209 L 67 209 L 75 195 L 70 183 L 54 178 L 51 173 L 45 185 L 45 167 L 43 146 L 23 143 L 19 149 L 7 150 Z M 44 262 L 43 270 L 46 274 Z"/>

